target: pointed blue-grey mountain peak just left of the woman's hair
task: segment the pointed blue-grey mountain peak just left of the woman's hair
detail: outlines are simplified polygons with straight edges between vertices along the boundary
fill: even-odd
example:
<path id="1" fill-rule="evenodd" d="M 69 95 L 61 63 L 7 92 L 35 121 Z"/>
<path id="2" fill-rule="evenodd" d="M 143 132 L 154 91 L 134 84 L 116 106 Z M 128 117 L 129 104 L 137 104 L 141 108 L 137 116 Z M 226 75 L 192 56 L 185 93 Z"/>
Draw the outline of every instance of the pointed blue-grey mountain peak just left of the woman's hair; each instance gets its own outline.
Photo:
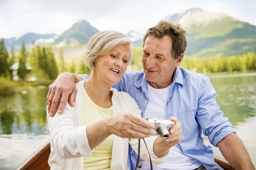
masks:
<path id="1" fill-rule="evenodd" d="M 90 38 L 99 32 L 98 29 L 90 25 L 86 20 L 80 20 L 75 23 L 70 29 L 63 32 L 54 43 L 58 43 L 59 46 L 64 44 L 84 44 L 88 43 Z"/>

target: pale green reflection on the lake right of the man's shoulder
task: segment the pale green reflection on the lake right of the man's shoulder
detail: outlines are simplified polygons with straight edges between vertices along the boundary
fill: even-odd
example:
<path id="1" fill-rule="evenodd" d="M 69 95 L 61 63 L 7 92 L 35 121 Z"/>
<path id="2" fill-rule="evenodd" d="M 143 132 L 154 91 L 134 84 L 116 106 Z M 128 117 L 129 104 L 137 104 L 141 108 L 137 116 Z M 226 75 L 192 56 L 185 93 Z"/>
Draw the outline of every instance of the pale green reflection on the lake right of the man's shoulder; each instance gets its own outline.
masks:
<path id="1" fill-rule="evenodd" d="M 211 78 L 224 116 L 235 126 L 256 114 L 256 76 Z"/>

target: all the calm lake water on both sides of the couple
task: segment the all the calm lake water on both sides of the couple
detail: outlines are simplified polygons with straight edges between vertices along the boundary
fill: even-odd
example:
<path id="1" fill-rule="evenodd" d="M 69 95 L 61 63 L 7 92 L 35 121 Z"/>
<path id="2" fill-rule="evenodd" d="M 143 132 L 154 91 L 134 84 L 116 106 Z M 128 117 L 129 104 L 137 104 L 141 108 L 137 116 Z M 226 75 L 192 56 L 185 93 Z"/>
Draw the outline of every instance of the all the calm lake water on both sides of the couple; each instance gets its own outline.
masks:
<path id="1" fill-rule="evenodd" d="M 256 73 L 210 78 L 218 105 L 256 166 Z M 23 95 L 0 96 L 0 170 L 15 169 L 49 140 L 47 92 L 48 88 L 32 87 Z M 209 144 L 207 137 L 204 139 Z M 214 152 L 223 158 L 218 148 Z"/>

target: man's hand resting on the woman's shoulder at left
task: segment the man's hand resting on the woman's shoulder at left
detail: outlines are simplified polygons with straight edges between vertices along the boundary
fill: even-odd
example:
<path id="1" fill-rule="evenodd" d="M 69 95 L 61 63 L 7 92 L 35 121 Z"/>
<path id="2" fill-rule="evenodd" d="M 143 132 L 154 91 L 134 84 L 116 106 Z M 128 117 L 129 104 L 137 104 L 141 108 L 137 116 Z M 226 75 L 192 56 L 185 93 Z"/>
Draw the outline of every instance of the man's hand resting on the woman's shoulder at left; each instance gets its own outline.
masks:
<path id="1" fill-rule="evenodd" d="M 64 72 L 58 75 L 58 78 L 53 82 L 49 88 L 47 95 L 47 112 L 49 116 L 54 116 L 57 108 L 58 113 L 62 113 L 67 105 L 74 106 L 76 100 L 76 82 L 81 81 L 82 78 L 70 72 Z"/>

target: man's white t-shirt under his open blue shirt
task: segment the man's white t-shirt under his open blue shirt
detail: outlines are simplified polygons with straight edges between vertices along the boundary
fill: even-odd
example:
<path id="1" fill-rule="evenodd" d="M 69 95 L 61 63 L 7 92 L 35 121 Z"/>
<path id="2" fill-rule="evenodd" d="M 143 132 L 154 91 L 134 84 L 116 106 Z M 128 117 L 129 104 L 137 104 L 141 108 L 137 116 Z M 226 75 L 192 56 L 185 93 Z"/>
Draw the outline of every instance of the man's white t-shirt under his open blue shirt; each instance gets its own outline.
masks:
<path id="1" fill-rule="evenodd" d="M 148 84 L 148 106 L 143 118 L 165 119 L 164 108 L 169 100 L 171 85 L 164 89 L 155 89 Z M 202 164 L 186 156 L 175 145 L 172 147 L 168 160 L 164 164 L 153 165 L 156 170 L 194 170 Z M 150 162 L 140 159 L 140 170 L 150 170 Z"/>

